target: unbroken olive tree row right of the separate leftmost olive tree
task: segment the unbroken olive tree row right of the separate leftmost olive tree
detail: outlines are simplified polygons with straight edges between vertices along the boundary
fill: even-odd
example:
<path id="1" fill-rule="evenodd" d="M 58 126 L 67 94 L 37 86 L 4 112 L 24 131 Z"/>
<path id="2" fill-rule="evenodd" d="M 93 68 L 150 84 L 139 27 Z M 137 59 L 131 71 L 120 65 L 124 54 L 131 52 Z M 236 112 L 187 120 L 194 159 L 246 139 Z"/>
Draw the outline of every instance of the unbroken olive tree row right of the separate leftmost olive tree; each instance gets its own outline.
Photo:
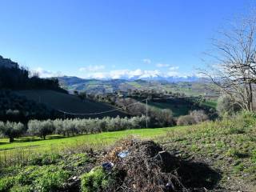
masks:
<path id="1" fill-rule="evenodd" d="M 150 120 L 150 119 L 148 119 Z M 74 118 L 28 122 L 28 133 L 45 138 L 47 134 L 95 134 L 105 131 L 129 130 L 146 127 L 146 117 L 133 118 Z"/>

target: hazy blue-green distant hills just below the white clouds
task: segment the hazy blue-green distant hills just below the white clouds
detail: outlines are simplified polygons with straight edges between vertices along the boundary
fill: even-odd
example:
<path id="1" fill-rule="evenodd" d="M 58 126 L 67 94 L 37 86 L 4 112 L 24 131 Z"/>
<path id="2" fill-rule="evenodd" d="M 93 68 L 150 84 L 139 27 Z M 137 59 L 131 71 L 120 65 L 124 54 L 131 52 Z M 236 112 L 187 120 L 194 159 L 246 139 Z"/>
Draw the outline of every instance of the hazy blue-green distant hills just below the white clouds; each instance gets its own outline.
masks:
<path id="1" fill-rule="evenodd" d="M 218 88 L 209 79 L 198 77 L 169 77 L 142 79 L 83 79 L 63 76 L 58 78 L 62 88 L 73 93 L 74 90 L 86 91 L 88 94 L 113 93 L 118 90 L 166 90 L 186 95 L 207 95 L 218 97 Z"/>

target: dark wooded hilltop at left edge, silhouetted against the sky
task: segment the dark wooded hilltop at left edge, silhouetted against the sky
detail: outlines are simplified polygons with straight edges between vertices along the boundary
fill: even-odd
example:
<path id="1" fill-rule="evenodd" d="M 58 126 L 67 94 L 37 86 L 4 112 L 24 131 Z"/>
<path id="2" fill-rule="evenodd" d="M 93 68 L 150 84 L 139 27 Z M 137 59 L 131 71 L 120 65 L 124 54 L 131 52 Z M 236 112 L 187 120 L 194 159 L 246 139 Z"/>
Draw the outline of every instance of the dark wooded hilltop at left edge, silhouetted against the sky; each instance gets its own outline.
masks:
<path id="1" fill-rule="evenodd" d="M 66 92 L 58 85 L 58 78 L 38 78 L 25 67 L 0 56 L 0 88 L 2 89 L 50 89 Z"/>

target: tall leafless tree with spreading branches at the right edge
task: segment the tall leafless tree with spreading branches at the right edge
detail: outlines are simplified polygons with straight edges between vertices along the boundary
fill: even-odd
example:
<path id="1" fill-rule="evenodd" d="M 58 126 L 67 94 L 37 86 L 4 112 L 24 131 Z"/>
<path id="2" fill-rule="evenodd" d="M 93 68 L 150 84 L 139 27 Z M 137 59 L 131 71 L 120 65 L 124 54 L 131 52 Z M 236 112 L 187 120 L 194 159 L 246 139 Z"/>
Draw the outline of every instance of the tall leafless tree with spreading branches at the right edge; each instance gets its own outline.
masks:
<path id="1" fill-rule="evenodd" d="M 244 18 L 213 39 L 214 65 L 201 70 L 244 110 L 254 110 L 256 82 L 256 17 Z"/>

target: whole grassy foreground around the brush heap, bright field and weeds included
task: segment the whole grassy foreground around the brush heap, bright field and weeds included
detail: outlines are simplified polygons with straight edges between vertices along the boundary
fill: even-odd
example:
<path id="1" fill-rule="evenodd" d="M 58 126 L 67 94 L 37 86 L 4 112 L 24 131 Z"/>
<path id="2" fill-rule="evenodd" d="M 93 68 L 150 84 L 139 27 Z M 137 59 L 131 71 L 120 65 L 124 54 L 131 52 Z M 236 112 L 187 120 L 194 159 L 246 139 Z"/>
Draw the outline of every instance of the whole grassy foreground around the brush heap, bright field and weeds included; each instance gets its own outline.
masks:
<path id="1" fill-rule="evenodd" d="M 27 183 L 29 190 L 24 191 L 31 191 L 31 187 L 41 189 L 38 191 L 63 187 L 63 183 L 66 183 L 71 175 L 74 177 L 86 173 L 97 166 L 104 154 L 102 151 L 107 151 L 120 139 L 131 137 L 154 140 L 178 158 L 206 163 L 221 174 L 218 185 L 214 186 L 216 189 L 222 189 L 220 191 L 255 191 L 255 126 L 256 115 L 245 112 L 193 126 L 120 130 L 70 138 L 50 135 L 45 141 L 41 138 L 26 137 L 7 143 L 8 140 L 2 138 L 0 191 L 9 191 L 1 190 L 1 183 L 2 189 L 19 187 L 22 190 L 21 187 L 26 187 L 23 185 Z M 91 156 L 90 151 L 94 151 L 96 157 Z M 49 180 L 51 170 L 55 170 L 56 175 Z M 29 176 L 26 176 L 27 174 Z M 11 175 L 11 178 L 8 175 Z M 6 182 L 7 180 L 13 182 Z M 44 190 L 42 186 L 45 187 Z"/>

